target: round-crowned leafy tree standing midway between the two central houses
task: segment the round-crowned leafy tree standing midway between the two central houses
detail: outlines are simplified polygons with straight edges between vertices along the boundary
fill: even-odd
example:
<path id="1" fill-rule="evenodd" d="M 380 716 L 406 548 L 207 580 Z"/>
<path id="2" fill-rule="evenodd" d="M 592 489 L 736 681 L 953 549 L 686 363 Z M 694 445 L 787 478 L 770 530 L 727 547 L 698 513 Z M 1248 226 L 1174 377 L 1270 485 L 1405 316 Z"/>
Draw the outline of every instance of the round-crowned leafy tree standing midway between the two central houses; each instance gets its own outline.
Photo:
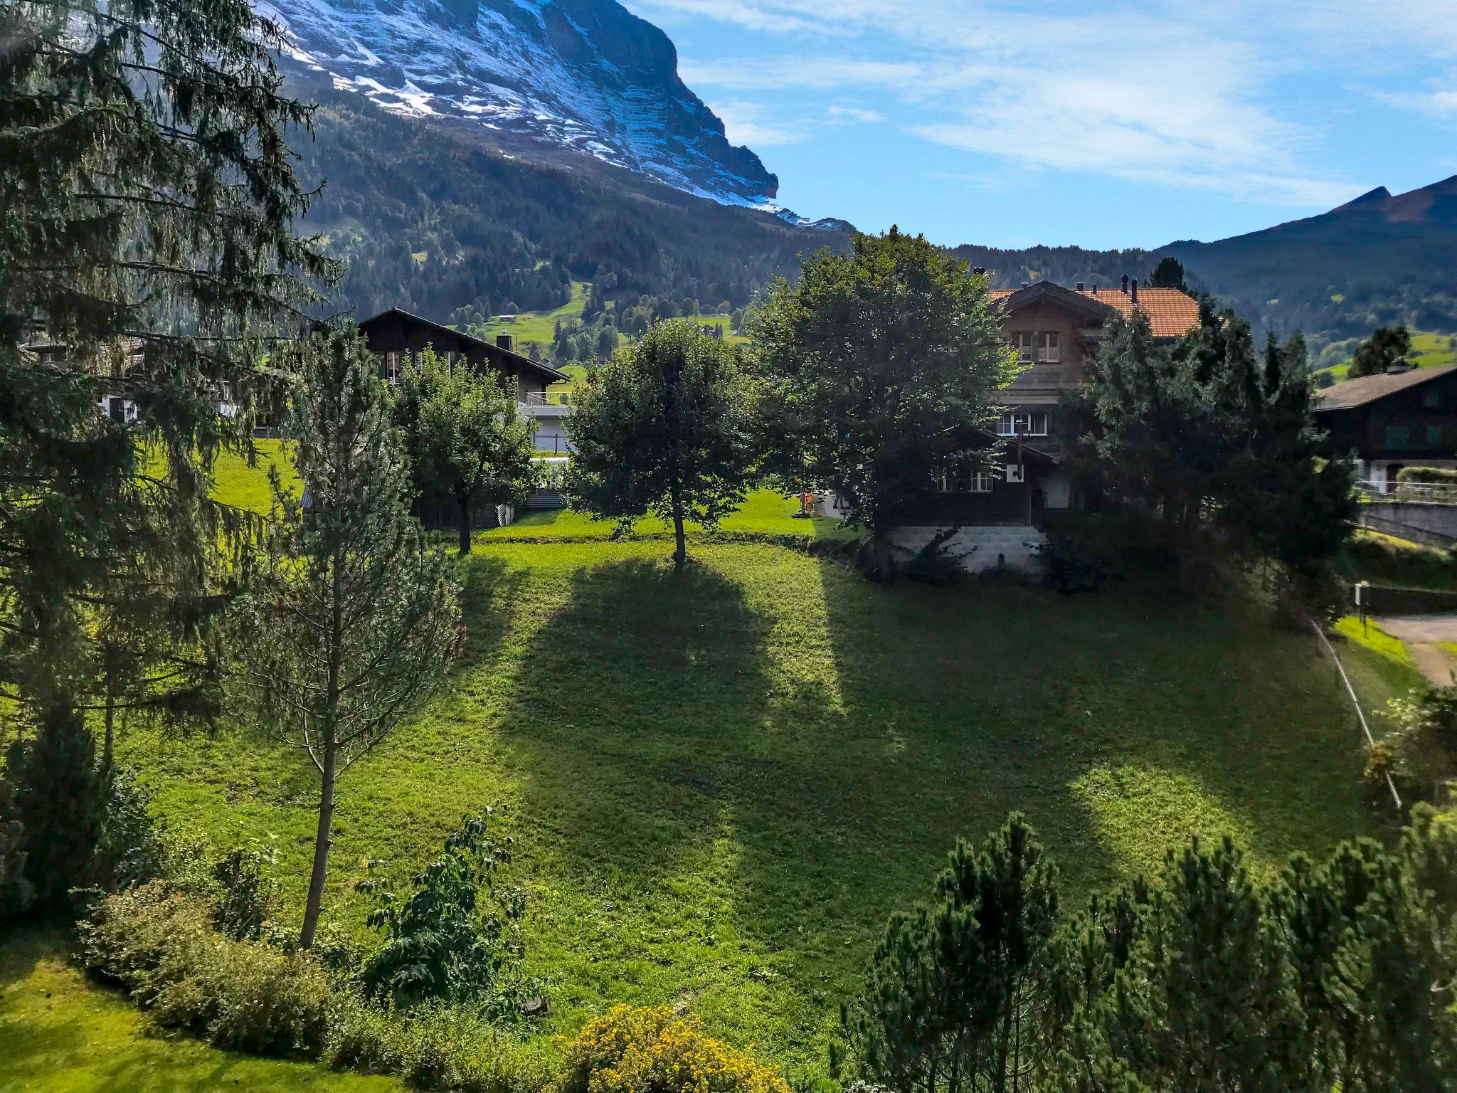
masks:
<path id="1" fill-rule="evenodd" d="M 562 493 L 573 509 L 631 529 L 673 526 L 688 563 L 688 520 L 715 528 L 753 474 L 753 385 L 733 347 L 686 319 L 656 324 L 599 369 L 567 417 L 576 456 Z"/>

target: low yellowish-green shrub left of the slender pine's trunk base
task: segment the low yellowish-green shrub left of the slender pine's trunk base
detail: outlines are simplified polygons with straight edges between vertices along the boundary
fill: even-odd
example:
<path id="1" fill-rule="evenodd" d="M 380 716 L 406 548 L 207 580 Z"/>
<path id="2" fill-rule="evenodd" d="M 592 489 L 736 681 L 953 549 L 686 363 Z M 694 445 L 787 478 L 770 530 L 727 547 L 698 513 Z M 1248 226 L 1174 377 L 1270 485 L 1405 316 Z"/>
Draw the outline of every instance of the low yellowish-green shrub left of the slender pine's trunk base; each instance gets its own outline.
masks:
<path id="1" fill-rule="evenodd" d="M 312 1059 L 325 1048 L 328 973 L 306 955 L 223 937 L 208 908 L 166 882 L 101 901 L 79 928 L 86 966 L 159 1027 L 255 1055 Z"/>

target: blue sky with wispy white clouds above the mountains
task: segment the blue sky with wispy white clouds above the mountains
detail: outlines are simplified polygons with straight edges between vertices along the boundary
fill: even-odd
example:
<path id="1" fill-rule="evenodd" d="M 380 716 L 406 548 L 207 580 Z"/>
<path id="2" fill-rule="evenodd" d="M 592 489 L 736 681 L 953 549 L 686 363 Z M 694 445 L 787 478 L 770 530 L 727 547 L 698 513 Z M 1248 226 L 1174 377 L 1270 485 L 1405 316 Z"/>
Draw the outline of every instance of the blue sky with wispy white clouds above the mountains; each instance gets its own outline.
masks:
<path id="1" fill-rule="evenodd" d="M 624 0 L 779 203 L 1157 246 L 1457 175 L 1457 0 Z"/>

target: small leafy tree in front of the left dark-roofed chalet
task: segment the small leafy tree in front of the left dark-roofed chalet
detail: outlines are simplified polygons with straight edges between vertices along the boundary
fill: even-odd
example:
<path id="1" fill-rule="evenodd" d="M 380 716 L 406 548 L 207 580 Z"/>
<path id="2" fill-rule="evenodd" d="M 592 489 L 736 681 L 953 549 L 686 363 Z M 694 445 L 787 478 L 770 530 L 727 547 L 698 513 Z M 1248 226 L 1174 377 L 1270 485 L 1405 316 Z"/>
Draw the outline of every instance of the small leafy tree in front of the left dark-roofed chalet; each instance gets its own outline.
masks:
<path id="1" fill-rule="evenodd" d="M 460 554 L 471 552 L 471 509 L 481 500 L 522 504 L 536 488 L 536 423 L 516 386 L 491 370 L 450 367 L 434 350 L 411 359 L 395 399 L 395 421 L 417 490 L 456 506 Z"/>

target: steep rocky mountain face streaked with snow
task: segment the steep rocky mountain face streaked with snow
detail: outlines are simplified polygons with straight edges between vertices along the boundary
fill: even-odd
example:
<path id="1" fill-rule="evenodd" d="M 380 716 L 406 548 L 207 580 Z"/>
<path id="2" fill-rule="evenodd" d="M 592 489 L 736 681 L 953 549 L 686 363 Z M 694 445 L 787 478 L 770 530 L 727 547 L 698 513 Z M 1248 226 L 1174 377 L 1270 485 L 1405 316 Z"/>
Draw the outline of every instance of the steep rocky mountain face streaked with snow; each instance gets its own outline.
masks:
<path id="1" fill-rule="evenodd" d="M 779 213 L 779 181 L 616 0 L 256 0 L 291 58 L 398 114 L 546 141 L 678 189 Z"/>

